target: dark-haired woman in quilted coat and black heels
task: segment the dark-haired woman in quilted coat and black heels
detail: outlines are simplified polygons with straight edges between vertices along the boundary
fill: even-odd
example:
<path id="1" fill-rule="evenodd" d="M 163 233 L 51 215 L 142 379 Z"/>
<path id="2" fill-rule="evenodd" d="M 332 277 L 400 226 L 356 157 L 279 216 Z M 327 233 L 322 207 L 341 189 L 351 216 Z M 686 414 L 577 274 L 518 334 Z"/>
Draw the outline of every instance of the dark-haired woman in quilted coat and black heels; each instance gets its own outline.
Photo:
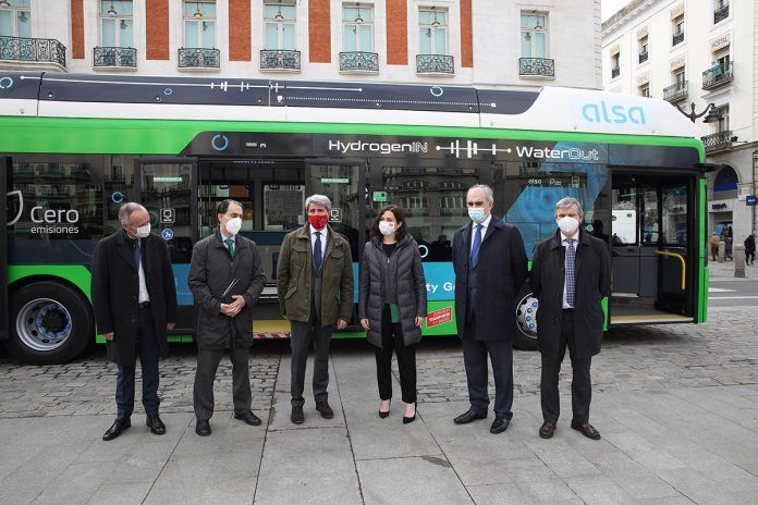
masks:
<path id="1" fill-rule="evenodd" d="M 392 350 L 398 355 L 405 402 L 403 423 L 416 419 L 416 344 L 427 313 L 426 279 L 418 244 L 406 233 L 405 219 L 387 206 L 374 219 L 371 239 L 360 266 L 358 315 L 368 342 L 376 346 L 379 417 L 390 414 Z"/>

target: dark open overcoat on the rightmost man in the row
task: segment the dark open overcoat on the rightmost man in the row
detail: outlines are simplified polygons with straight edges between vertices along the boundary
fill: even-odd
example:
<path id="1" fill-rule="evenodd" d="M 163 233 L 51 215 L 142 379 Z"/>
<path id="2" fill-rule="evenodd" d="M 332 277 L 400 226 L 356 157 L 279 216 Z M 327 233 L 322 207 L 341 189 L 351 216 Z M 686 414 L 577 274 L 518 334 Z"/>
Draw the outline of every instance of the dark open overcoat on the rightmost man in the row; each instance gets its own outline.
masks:
<path id="1" fill-rule="evenodd" d="M 601 303 L 611 294 L 611 259 L 608 245 L 599 238 L 579 232 L 575 264 L 574 337 L 576 357 L 582 359 L 600 353 L 606 320 Z M 565 283 L 565 247 L 561 244 L 560 231 L 535 247 L 530 283 L 534 296 L 539 299 L 539 350 L 552 359 L 558 359 Z"/>

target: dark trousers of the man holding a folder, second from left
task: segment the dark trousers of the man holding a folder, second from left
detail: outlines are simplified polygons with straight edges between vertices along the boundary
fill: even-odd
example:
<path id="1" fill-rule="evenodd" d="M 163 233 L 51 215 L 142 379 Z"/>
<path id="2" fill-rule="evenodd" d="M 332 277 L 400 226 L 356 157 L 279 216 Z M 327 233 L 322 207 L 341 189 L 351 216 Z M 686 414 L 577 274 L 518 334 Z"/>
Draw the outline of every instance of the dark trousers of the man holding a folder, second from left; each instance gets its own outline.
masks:
<path id="1" fill-rule="evenodd" d="M 193 391 L 195 416 L 198 419 L 210 419 L 213 416 L 213 381 L 216 381 L 216 370 L 218 370 L 221 358 L 227 350 L 232 361 L 234 411 L 242 414 L 250 409 L 253 403 L 249 368 L 250 348 L 237 346 L 230 349 L 199 349 Z"/>

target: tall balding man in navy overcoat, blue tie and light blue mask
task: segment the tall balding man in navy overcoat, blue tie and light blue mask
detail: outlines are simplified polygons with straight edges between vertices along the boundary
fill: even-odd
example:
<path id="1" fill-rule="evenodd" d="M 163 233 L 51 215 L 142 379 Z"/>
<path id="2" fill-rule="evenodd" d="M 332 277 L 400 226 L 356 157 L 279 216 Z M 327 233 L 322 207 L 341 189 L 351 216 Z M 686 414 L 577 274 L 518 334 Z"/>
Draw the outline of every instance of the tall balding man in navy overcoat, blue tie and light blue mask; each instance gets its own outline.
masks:
<path id="1" fill-rule="evenodd" d="M 454 419 L 466 424 L 485 419 L 489 408 L 487 356 L 494 374 L 494 421 L 491 433 L 508 429 L 513 412 L 514 298 L 526 281 L 524 241 L 515 226 L 492 215 L 492 189 L 472 186 L 466 206 L 472 222 L 455 232 L 455 319 L 463 341 L 469 409 Z"/>

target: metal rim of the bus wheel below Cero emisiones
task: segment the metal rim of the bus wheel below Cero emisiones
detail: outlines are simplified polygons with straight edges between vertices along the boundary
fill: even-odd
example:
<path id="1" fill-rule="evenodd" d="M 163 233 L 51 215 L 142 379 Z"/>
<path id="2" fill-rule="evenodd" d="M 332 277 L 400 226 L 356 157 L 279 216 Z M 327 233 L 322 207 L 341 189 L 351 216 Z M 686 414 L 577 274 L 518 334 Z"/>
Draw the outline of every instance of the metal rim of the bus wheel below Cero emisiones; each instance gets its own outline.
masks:
<path id="1" fill-rule="evenodd" d="M 71 336 L 71 315 L 53 299 L 34 299 L 19 311 L 16 332 L 30 349 L 50 352 Z"/>

